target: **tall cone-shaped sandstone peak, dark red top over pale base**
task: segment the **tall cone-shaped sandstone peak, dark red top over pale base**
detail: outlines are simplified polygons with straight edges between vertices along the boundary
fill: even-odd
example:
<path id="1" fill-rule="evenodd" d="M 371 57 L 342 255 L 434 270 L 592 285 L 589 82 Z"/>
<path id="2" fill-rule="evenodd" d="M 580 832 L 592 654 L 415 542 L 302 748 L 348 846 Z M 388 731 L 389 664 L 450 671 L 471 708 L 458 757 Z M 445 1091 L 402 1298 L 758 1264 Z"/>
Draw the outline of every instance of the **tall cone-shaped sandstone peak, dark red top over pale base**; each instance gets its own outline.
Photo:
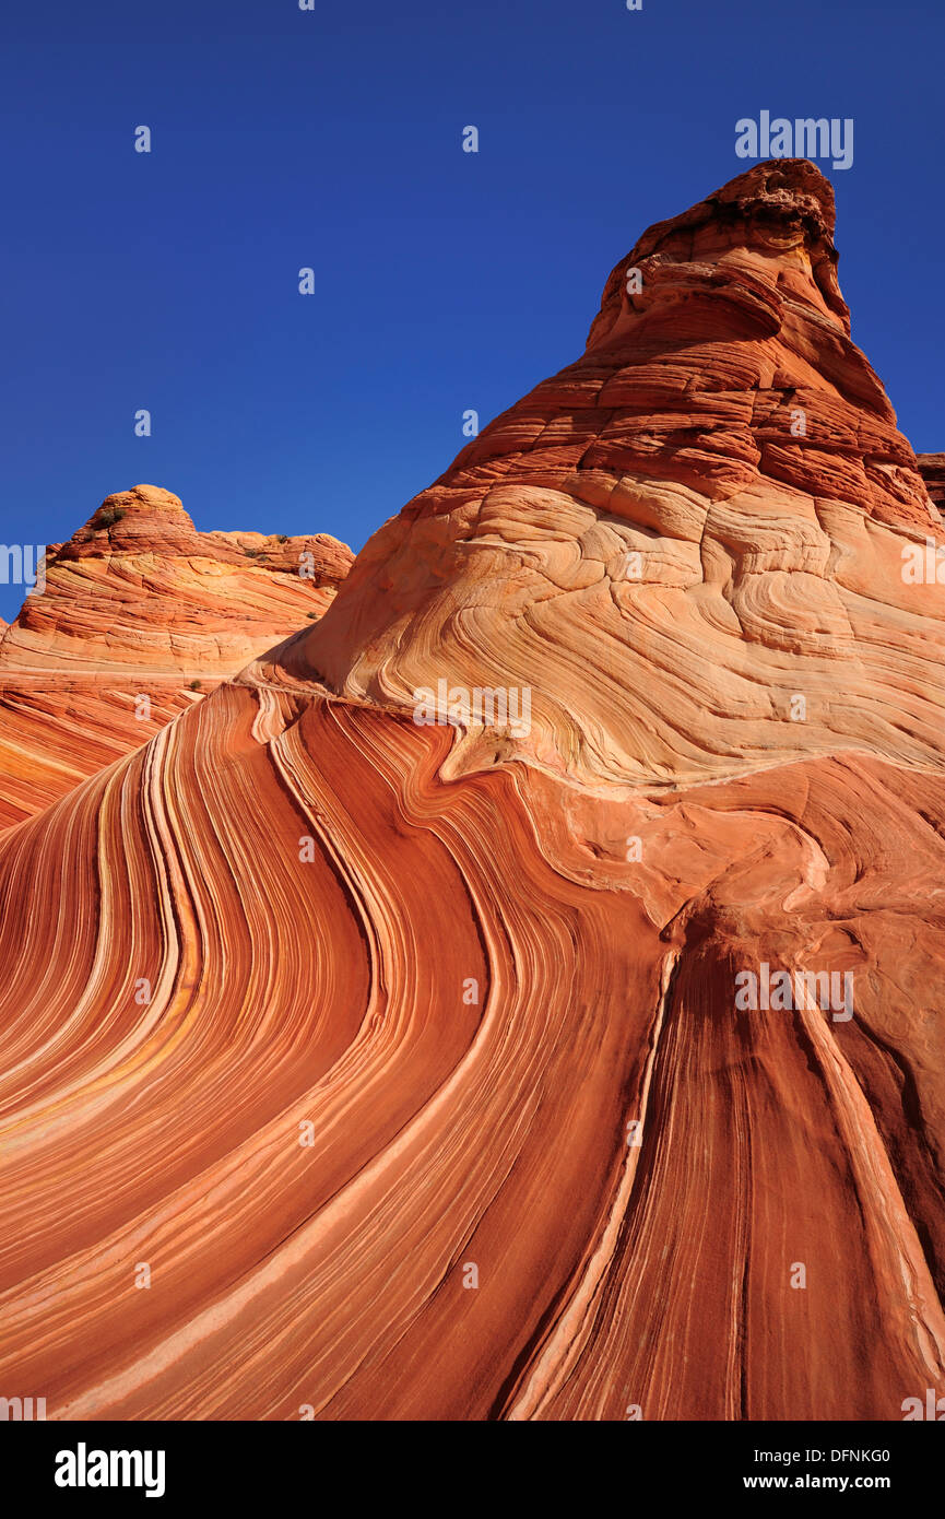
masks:
<path id="1" fill-rule="evenodd" d="M 644 232 L 585 354 L 380 529 L 298 671 L 401 709 L 527 688 L 515 752 L 594 782 L 934 764 L 945 591 L 902 570 L 940 519 L 833 226 L 819 170 L 778 159 Z"/>

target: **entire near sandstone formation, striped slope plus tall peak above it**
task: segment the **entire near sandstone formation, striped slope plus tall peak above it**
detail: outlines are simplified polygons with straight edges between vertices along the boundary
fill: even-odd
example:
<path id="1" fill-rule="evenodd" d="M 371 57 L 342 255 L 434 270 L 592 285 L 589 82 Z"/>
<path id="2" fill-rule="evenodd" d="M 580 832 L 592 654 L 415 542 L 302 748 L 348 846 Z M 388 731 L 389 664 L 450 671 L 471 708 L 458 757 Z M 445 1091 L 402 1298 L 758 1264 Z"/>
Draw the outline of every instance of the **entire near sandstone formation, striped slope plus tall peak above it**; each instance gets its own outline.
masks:
<path id="1" fill-rule="evenodd" d="M 817 170 L 644 234 L 319 623 L 0 843 L 0 1382 L 945 1394 L 937 532 Z"/>

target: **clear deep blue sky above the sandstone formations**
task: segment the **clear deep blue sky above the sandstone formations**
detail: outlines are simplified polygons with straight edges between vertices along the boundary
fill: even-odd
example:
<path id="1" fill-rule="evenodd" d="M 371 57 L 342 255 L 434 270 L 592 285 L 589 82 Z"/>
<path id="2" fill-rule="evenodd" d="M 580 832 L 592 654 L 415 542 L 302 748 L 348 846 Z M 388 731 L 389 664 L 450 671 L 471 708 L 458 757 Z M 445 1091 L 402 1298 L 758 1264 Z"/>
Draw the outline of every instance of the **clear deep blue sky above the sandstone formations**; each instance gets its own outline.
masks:
<path id="1" fill-rule="evenodd" d="M 2 542 L 150 482 L 359 548 L 761 109 L 854 118 L 822 164 L 854 339 L 945 450 L 942 0 L 8 0 L 0 39 Z"/>

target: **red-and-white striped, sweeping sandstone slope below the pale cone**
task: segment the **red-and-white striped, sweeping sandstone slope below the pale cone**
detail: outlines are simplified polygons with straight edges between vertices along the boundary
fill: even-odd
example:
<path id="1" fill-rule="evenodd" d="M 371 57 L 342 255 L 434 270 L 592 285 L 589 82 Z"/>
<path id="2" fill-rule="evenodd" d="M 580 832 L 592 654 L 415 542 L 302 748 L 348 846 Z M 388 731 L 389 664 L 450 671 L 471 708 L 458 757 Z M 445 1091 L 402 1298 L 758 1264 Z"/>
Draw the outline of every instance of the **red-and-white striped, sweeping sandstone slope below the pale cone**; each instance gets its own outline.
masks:
<path id="1" fill-rule="evenodd" d="M 621 804 L 445 782 L 448 744 L 223 685 L 8 835 L 2 1384 L 53 1419 L 943 1396 L 940 778 Z M 760 962 L 855 1015 L 740 1010 Z"/>

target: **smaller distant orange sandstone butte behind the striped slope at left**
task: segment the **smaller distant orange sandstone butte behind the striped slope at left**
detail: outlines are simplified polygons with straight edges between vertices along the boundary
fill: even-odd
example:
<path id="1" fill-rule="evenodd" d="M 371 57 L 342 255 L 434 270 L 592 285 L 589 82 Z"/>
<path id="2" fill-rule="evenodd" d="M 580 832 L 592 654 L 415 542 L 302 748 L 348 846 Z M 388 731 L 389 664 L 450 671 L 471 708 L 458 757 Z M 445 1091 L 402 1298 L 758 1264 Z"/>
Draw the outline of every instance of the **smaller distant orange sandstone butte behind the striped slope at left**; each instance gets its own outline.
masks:
<path id="1" fill-rule="evenodd" d="M 322 533 L 199 533 L 158 486 L 109 495 L 67 544 L 49 547 L 46 589 L 3 626 L 0 828 L 321 615 L 351 559 Z"/>

